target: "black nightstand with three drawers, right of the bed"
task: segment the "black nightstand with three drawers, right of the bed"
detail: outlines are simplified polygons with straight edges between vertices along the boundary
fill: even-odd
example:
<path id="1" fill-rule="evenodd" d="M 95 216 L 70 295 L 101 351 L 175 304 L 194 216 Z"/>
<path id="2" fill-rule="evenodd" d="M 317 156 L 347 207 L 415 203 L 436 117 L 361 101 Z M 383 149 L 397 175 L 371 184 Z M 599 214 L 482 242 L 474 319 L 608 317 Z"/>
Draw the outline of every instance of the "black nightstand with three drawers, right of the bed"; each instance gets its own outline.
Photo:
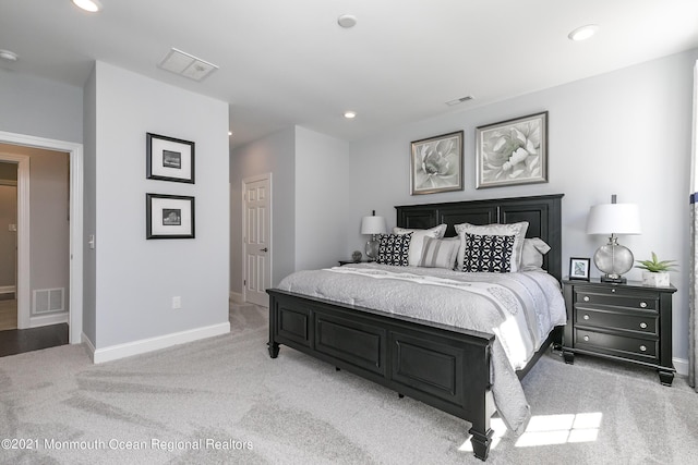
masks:
<path id="1" fill-rule="evenodd" d="M 595 355 L 657 369 L 671 386 L 672 295 L 676 287 L 651 287 L 639 281 L 623 284 L 599 280 L 563 280 L 567 326 L 565 362 L 575 354 Z"/>

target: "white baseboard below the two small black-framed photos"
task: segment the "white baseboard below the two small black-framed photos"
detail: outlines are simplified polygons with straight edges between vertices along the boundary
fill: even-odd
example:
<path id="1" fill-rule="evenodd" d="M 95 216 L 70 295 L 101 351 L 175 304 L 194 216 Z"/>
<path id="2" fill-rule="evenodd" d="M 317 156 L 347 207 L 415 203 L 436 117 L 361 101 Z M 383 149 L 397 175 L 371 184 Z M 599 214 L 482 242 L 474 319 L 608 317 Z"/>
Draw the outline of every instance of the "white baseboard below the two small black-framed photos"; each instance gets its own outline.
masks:
<path id="1" fill-rule="evenodd" d="M 133 355 L 145 354 L 158 351 L 172 345 L 184 344 L 200 339 L 213 338 L 215 335 L 230 332 L 230 322 L 213 325 L 204 328 L 196 328 L 189 331 L 174 332 L 157 338 L 142 339 L 140 341 L 128 342 L 125 344 L 111 345 L 109 347 L 92 350 L 92 360 L 95 364 L 117 360 L 119 358 L 131 357 Z"/>

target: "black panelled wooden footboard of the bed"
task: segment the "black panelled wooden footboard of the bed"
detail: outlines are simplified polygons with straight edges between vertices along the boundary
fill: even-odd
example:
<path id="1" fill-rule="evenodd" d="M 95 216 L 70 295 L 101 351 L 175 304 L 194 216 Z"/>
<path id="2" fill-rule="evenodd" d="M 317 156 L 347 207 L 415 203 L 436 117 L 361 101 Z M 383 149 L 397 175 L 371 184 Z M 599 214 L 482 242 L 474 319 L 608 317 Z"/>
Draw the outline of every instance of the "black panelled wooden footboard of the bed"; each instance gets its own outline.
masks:
<path id="1" fill-rule="evenodd" d="M 272 358 L 284 344 L 462 418 L 472 425 L 476 456 L 488 457 L 494 335 L 279 290 L 267 293 Z"/>

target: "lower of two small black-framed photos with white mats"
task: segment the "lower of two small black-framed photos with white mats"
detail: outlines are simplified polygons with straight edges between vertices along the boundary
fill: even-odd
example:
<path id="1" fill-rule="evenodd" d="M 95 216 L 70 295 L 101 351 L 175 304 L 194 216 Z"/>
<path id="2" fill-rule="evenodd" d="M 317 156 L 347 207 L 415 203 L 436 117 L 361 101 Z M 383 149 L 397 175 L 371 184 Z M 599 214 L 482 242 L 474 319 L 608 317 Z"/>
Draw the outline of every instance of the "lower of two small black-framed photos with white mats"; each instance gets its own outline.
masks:
<path id="1" fill-rule="evenodd" d="M 194 197 L 145 194 L 145 238 L 194 237 Z"/>

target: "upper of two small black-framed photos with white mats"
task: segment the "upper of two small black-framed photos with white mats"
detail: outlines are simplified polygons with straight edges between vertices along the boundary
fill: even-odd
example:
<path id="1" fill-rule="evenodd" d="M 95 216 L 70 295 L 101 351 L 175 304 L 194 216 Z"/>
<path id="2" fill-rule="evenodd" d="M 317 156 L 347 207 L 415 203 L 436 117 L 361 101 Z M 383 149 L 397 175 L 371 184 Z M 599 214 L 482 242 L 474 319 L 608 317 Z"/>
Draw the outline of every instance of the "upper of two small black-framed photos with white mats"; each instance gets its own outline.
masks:
<path id="1" fill-rule="evenodd" d="M 146 133 L 146 178 L 194 184 L 194 143 Z"/>

